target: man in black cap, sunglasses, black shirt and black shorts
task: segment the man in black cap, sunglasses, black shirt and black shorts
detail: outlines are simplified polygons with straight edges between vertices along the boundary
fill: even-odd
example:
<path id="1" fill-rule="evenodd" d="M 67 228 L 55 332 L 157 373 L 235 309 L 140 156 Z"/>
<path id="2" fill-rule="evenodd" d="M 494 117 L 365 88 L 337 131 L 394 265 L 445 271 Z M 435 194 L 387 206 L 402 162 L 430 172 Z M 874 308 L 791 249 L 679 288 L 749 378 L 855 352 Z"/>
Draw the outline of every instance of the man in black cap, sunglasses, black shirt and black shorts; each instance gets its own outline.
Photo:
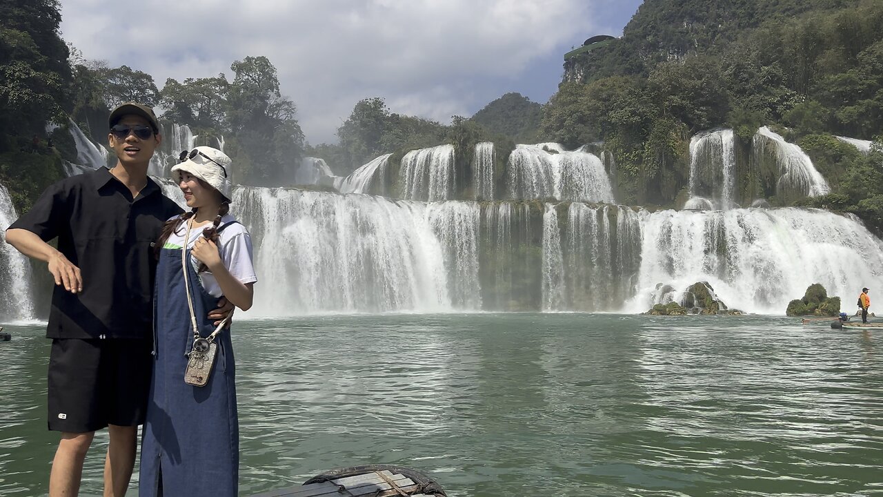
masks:
<path id="1" fill-rule="evenodd" d="M 50 497 L 77 495 L 94 432 L 105 426 L 104 495 L 125 495 L 153 363 L 153 244 L 166 219 L 181 212 L 147 178 L 162 142 L 154 111 L 124 103 L 109 126 L 117 165 L 52 185 L 6 231 L 7 243 L 48 264 L 57 285 L 46 333 L 49 430 L 62 433 Z M 57 249 L 47 243 L 54 238 Z"/>

